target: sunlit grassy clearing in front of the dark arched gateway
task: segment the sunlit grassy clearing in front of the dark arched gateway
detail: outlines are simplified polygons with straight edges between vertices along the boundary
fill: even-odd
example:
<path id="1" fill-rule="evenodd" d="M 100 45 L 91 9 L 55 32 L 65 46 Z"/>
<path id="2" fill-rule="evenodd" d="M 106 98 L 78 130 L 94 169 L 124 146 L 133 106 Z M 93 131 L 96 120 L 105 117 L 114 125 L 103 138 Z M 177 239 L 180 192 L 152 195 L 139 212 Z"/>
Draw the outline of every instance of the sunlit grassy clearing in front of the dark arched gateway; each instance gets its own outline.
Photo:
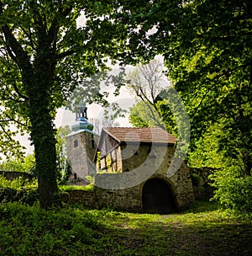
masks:
<path id="1" fill-rule="evenodd" d="M 252 255 L 251 221 L 235 220 L 215 206 L 201 202 L 192 212 L 168 216 L 107 216 L 109 235 L 102 237 L 100 255 Z"/>

